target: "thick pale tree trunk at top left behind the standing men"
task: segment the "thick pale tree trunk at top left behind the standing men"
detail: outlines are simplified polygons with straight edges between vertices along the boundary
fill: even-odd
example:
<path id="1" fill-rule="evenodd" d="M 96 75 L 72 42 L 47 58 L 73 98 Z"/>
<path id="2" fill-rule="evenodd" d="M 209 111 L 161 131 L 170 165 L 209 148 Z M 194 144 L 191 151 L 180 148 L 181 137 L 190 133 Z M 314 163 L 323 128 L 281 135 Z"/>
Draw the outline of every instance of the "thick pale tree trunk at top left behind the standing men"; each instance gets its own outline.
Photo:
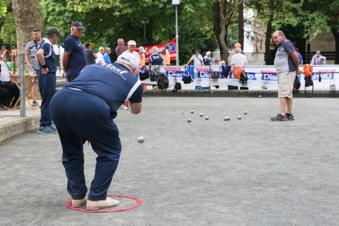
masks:
<path id="1" fill-rule="evenodd" d="M 25 54 L 25 46 L 32 40 L 32 29 L 42 28 L 41 8 L 37 0 L 12 0 L 17 34 L 17 53 Z"/>

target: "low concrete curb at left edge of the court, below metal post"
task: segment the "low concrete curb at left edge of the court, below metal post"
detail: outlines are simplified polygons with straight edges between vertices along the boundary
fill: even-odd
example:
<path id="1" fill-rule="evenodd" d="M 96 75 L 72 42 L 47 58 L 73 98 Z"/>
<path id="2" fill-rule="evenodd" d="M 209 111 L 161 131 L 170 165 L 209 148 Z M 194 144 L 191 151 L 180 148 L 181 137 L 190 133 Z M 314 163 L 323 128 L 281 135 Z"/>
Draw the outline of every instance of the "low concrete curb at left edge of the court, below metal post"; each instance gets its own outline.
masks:
<path id="1" fill-rule="evenodd" d="M 37 128 L 39 121 L 40 115 L 9 119 L 6 124 L 0 125 L 0 142 L 25 131 Z"/>

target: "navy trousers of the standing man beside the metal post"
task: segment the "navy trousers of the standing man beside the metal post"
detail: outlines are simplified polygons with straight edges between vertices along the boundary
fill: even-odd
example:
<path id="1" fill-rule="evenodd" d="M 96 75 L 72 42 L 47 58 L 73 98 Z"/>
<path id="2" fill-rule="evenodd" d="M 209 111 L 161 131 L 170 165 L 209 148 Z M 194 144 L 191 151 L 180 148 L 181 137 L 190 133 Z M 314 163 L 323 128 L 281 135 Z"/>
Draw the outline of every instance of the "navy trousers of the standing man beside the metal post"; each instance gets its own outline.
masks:
<path id="1" fill-rule="evenodd" d="M 41 95 L 41 118 L 40 126 L 49 126 L 52 124 L 50 115 L 50 102 L 53 95 L 56 93 L 57 77 L 56 73 L 47 73 L 43 75 L 41 71 L 38 74 L 38 84 Z"/>

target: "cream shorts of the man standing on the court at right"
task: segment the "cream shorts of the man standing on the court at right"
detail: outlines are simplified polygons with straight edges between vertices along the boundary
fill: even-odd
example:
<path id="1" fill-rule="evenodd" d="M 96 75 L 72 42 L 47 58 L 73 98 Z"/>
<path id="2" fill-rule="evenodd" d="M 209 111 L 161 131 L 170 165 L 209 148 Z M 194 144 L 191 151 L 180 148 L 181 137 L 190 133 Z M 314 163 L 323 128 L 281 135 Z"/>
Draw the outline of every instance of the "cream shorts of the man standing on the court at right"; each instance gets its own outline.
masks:
<path id="1" fill-rule="evenodd" d="M 293 98 L 295 71 L 278 73 L 278 98 Z"/>

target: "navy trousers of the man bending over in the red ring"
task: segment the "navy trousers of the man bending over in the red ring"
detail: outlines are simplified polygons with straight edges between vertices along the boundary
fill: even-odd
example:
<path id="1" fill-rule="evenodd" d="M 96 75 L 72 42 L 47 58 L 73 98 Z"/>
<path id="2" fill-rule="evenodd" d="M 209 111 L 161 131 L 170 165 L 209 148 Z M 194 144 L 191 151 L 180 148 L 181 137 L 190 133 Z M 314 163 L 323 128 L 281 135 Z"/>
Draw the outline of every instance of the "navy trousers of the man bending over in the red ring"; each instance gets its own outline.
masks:
<path id="1" fill-rule="evenodd" d="M 121 152 L 109 106 L 98 96 L 62 88 L 53 97 L 50 111 L 62 145 L 68 193 L 73 199 L 84 198 L 87 193 L 83 152 L 83 140 L 87 140 L 98 155 L 88 199 L 105 200 Z"/>

